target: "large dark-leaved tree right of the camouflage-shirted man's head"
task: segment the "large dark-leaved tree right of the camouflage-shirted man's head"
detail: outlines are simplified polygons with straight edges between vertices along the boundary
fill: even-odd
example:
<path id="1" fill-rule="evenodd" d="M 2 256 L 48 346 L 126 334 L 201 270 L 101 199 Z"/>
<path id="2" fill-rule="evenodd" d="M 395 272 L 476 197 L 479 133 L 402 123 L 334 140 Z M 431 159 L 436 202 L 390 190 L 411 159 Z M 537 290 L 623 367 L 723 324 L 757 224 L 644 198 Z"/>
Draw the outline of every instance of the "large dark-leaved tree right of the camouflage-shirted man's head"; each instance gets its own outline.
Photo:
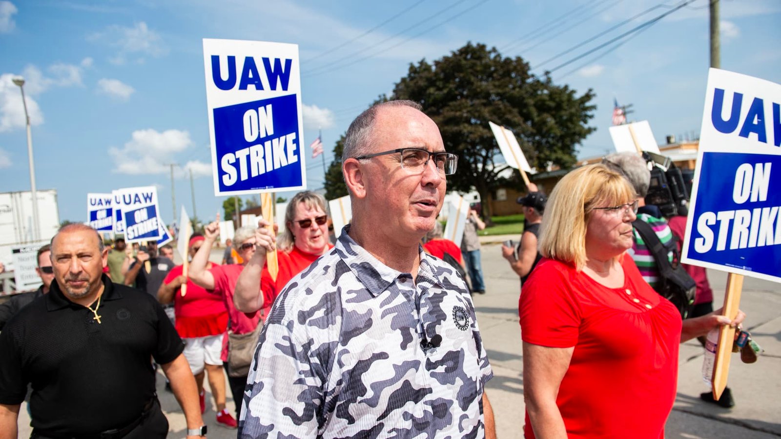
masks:
<path id="1" fill-rule="evenodd" d="M 522 58 L 505 58 L 496 48 L 471 42 L 433 63 L 423 59 L 411 64 L 392 98 L 423 105 L 440 127 L 445 149 L 458 154 L 458 170 L 448 177 L 448 189 L 474 187 L 488 217 L 492 193 L 507 184 L 500 173 L 508 167 L 489 120 L 515 133 L 530 166 L 538 170 L 574 165 L 576 145 L 594 131 L 587 126 L 594 117 L 593 91 L 578 96 L 567 85 L 553 84 L 547 73 L 530 73 Z M 520 181 L 514 172 L 512 180 Z"/>

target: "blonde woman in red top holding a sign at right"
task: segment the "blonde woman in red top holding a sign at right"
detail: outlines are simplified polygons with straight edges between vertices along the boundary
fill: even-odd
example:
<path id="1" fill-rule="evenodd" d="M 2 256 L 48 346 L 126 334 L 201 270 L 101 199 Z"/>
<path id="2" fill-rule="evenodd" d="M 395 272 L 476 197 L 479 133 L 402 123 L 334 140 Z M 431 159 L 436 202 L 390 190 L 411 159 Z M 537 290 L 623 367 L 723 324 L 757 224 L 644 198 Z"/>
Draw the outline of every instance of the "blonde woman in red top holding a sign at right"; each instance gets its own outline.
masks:
<path id="1" fill-rule="evenodd" d="M 633 188 L 603 164 L 567 174 L 548 199 L 544 258 L 519 302 L 527 439 L 664 437 L 679 344 L 745 317 L 682 323 L 626 253 L 636 218 Z"/>

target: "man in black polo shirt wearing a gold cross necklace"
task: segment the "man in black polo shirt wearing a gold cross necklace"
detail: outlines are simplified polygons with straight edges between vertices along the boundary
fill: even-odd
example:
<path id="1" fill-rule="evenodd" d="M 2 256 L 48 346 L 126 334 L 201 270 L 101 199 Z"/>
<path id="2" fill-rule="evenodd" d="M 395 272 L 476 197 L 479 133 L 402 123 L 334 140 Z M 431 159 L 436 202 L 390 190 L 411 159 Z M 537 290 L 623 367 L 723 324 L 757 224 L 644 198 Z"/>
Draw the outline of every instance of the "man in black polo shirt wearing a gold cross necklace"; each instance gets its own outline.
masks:
<path id="1" fill-rule="evenodd" d="M 16 437 L 28 382 L 32 437 L 166 437 L 152 358 L 171 380 L 188 437 L 205 434 L 180 337 L 154 298 L 102 274 L 106 254 L 83 224 L 52 239 L 56 282 L 0 333 L 0 438 Z"/>

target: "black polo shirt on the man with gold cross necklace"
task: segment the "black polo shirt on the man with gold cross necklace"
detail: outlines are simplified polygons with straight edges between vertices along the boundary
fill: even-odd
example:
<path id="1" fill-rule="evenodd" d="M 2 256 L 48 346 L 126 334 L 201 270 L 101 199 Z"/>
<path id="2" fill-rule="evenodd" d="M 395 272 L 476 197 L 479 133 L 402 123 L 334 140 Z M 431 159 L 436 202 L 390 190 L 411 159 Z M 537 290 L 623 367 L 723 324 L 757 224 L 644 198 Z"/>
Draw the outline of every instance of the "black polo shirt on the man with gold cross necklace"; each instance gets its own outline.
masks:
<path id="1" fill-rule="evenodd" d="M 35 429 L 78 437 L 126 426 L 155 394 L 152 357 L 166 364 L 184 350 L 154 298 L 102 281 L 101 323 L 55 281 L 0 333 L 0 403 L 20 404 L 31 383 Z"/>

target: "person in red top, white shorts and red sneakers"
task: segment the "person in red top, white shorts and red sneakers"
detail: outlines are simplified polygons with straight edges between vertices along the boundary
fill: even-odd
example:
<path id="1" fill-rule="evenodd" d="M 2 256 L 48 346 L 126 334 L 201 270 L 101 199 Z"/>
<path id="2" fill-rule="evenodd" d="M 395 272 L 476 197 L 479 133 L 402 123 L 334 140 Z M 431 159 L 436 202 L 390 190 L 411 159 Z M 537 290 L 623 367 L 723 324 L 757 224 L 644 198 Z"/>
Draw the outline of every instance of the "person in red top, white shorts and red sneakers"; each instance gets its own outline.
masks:
<path id="1" fill-rule="evenodd" d="M 189 255 L 192 258 L 203 244 L 204 237 L 194 234 L 190 239 Z M 214 266 L 208 262 L 208 268 Z M 176 314 L 176 328 L 185 343 L 184 357 L 190 363 L 190 369 L 198 384 L 198 394 L 201 399 L 201 413 L 206 411 L 203 380 L 209 376 L 209 387 L 217 409 L 217 424 L 223 427 L 236 428 L 237 421 L 225 409 L 225 374 L 221 352 L 223 338 L 226 336 L 228 312 L 223 299 L 216 294 L 209 294 L 202 287 L 182 275 L 184 266 L 175 266 L 163 280 L 157 293 L 162 304 L 173 302 Z M 187 283 L 187 291 L 181 294 L 181 286 Z"/>

